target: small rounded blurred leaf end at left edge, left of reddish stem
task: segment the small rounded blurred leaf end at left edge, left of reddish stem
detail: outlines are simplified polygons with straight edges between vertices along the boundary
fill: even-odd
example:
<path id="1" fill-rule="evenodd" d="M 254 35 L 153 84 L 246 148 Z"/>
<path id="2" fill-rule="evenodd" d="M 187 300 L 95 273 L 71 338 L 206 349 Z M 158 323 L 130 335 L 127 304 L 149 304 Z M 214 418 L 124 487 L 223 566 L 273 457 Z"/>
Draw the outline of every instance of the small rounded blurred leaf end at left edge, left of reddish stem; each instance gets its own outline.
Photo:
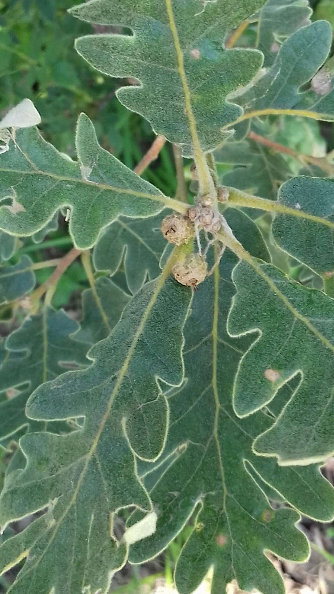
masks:
<path id="1" fill-rule="evenodd" d="M 34 288 L 31 265 L 29 256 L 23 255 L 18 264 L 0 268 L 0 304 L 19 299 Z"/>

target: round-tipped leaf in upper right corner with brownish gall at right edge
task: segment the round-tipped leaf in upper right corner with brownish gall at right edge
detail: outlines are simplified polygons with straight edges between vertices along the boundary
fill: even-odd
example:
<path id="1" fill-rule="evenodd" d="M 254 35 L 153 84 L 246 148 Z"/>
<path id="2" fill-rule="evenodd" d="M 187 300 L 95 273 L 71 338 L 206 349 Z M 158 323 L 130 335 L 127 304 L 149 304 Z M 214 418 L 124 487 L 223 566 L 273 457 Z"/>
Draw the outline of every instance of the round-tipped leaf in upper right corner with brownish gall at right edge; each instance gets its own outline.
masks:
<path id="1" fill-rule="evenodd" d="M 331 43 L 332 29 L 326 21 L 296 31 L 282 44 L 272 68 L 238 97 L 238 103 L 245 112 L 292 109 L 318 114 L 319 119 L 334 119 L 333 83 L 326 94 L 312 89 L 300 92 L 326 60 Z"/>

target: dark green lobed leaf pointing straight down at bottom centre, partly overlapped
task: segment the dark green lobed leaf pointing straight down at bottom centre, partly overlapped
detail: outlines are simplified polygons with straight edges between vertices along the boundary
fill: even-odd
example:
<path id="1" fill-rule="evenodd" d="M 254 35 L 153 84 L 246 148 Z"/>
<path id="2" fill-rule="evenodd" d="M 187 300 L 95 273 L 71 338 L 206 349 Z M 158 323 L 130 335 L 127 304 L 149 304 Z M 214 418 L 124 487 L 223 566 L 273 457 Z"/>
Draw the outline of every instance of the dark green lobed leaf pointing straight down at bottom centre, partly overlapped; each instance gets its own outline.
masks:
<path id="1" fill-rule="evenodd" d="M 316 466 L 282 468 L 253 453 L 254 437 L 274 419 L 262 411 L 239 419 L 232 408 L 234 375 L 251 344 L 251 337 L 232 338 L 226 331 L 235 262 L 235 256 L 225 252 L 220 270 L 216 268 L 194 296 L 185 325 L 185 383 L 167 393 L 171 417 L 162 456 L 166 462 L 150 490 L 159 510 L 156 532 L 130 549 L 132 563 L 159 554 L 196 510 L 194 531 L 177 563 L 180 594 L 193 592 L 210 567 L 212 594 L 224 592 L 232 579 L 242 590 L 284 592 L 264 549 L 301 561 L 308 545 L 294 526 L 296 511 L 270 508 L 261 491 L 263 482 L 275 497 L 307 515 L 324 519 L 334 513 L 333 489 Z M 144 480 L 150 481 L 150 475 Z"/>

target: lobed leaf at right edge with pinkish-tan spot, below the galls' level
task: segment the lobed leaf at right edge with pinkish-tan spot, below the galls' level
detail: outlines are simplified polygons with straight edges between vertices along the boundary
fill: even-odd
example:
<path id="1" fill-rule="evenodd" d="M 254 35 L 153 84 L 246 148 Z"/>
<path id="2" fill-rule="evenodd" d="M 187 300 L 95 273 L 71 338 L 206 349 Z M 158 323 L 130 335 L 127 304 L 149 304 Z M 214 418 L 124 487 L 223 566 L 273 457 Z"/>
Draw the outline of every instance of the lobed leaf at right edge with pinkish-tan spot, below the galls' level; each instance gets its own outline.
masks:
<path id="1" fill-rule="evenodd" d="M 234 409 L 250 415 L 278 389 L 302 374 L 277 424 L 256 442 L 256 451 L 277 455 L 281 465 L 318 462 L 334 451 L 334 301 L 289 280 L 268 264 L 235 268 L 237 286 L 228 318 L 232 336 L 253 333 L 234 385 Z M 255 339 L 255 340 L 254 340 Z"/>

